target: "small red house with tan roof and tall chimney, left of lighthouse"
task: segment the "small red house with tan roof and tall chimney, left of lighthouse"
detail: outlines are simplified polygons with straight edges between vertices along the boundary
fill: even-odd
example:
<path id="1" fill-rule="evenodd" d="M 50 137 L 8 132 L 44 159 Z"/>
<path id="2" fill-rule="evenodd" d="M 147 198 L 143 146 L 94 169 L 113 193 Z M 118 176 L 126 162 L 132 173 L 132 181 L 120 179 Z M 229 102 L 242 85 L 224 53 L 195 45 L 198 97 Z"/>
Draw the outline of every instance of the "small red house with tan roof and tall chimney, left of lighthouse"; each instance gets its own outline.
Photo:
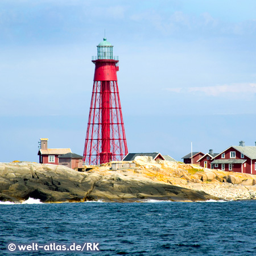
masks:
<path id="1" fill-rule="evenodd" d="M 67 153 L 70 148 L 48 148 L 48 139 L 40 139 L 39 163 L 59 164 L 59 156 Z"/>

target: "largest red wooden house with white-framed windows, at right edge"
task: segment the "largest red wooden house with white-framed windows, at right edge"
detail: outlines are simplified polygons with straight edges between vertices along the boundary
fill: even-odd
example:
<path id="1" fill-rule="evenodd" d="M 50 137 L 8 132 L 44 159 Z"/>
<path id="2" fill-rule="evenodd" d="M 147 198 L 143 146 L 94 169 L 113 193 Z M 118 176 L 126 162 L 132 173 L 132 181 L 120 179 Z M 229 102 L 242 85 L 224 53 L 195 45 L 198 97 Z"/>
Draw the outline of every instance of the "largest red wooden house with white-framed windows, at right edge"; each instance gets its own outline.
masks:
<path id="1" fill-rule="evenodd" d="M 240 142 L 240 146 L 230 146 L 214 156 L 212 168 L 256 174 L 256 146 L 245 146 L 243 141 Z"/>

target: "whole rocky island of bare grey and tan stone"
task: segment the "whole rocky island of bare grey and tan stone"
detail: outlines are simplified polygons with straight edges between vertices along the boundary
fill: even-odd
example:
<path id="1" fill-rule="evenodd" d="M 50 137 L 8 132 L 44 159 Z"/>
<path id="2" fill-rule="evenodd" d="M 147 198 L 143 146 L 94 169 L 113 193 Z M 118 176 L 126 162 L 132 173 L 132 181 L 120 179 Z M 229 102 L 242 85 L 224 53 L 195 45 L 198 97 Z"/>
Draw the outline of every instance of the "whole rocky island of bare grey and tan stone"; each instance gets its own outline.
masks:
<path id="1" fill-rule="evenodd" d="M 29 197 L 44 203 L 102 200 L 135 202 L 249 200 L 256 198 L 256 175 L 137 157 L 134 168 L 101 164 L 86 172 L 30 162 L 0 163 L 0 201 Z"/>

